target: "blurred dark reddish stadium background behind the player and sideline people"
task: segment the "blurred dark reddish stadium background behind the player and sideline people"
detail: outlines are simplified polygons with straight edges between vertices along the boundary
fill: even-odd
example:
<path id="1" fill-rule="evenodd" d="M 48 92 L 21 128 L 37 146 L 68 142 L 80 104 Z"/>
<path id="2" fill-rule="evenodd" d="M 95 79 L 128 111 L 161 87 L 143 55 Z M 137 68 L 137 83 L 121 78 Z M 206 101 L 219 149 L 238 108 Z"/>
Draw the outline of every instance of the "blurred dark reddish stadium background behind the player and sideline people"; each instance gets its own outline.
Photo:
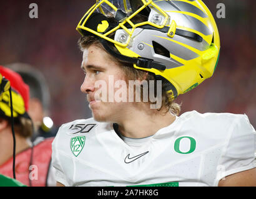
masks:
<path id="1" fill-rule="evenodd" d="M 220 60 L 212 78 L 180 95 L 182 113 L 247 114 L 256 127 L 256 1 L 204 0 L 215 17 L 221 39 Z M 29 18 L 36 3 L 38 19 Z M 22 0 L 0 2 L 0 65 L 29 63 L 49 84 L 49 116 L 56 126 L 91 117 L 81 93 L 84 73 L 76 25 L 94 1 Z M 217 4 L 225 4 L 225 19 L 218 19 Z"/>

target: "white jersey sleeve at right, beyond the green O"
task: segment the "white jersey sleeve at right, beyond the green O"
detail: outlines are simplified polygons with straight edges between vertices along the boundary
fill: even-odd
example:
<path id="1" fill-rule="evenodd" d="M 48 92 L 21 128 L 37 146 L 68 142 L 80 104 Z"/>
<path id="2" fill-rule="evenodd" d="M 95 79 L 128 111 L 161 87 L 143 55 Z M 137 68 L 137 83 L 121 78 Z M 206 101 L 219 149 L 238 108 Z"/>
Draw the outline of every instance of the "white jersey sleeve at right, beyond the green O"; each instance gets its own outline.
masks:
<path id="1" fill-rule="evenodd" d="M 256 134 L 247 115 L 236 115 L 230 126 L 230 135 L 227 139 L 220 158 L 219 167 L 222 171 L 218 180 L 227 175 L 253 169 L 255 165 Z"/>

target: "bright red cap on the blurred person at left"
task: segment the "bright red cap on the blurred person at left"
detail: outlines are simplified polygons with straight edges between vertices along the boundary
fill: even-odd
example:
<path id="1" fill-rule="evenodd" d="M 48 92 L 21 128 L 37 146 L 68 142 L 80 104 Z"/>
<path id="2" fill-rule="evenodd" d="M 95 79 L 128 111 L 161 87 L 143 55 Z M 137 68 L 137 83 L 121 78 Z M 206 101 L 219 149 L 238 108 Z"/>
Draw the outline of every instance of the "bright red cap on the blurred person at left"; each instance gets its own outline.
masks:
<path id="1" fill-rule="evenodd" d="M 23 98 L 26 111 L 29 109 L 29 86 L 24 83 L 21 75 L 9 68 L 0 65 L 0 73 L 11 83 L 11 88 L 17 91 Z"/>

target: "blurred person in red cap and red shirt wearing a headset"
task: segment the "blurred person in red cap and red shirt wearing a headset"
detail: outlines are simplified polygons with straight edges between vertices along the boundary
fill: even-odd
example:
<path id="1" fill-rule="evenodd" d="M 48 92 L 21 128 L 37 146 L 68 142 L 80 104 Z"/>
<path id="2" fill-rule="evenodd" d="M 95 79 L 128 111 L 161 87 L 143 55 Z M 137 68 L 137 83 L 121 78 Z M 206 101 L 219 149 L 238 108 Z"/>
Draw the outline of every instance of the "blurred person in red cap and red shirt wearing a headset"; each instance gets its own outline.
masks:
<path id="1" fill-rule="evenodd" d="M 36 145 L 30 141 L 34 128 L 27 114 L 29 86 L 19 74 L 8 68 L 0 66 L 0 73 L 10 81 L 12 96 L 12 111 L 9 91 L 2 93 L 0 101 L 0 174 L 16 178 L 27 186 L 52 186 L 55 183 L 54 180 L 49 180 L 52 179 L 52 139 L 45 139 Z M 15 142 L 12 137 L 11 112 L 14 118 Z M 16 155 L 13 158 L 14 145 Z M 12 170 L 13 159 L 16 159 L 15 172 Z"/>

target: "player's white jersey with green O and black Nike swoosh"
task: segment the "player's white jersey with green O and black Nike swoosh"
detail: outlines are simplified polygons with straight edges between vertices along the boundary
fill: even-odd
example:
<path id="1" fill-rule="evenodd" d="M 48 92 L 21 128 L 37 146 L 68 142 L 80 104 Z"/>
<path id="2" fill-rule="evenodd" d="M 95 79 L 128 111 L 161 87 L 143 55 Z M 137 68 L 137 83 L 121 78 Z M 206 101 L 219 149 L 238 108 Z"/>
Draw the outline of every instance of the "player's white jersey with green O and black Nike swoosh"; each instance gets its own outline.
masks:
<path id="1" fill-rule="evenodd" d="M 255 167 L 255 129 L 242 114 L 191 111 L 154 136 L 127 140 L 113 124 L 92 118 L 63 124 L 52 143 L 57 182 L 217 186 L 225 176 Z"/>

